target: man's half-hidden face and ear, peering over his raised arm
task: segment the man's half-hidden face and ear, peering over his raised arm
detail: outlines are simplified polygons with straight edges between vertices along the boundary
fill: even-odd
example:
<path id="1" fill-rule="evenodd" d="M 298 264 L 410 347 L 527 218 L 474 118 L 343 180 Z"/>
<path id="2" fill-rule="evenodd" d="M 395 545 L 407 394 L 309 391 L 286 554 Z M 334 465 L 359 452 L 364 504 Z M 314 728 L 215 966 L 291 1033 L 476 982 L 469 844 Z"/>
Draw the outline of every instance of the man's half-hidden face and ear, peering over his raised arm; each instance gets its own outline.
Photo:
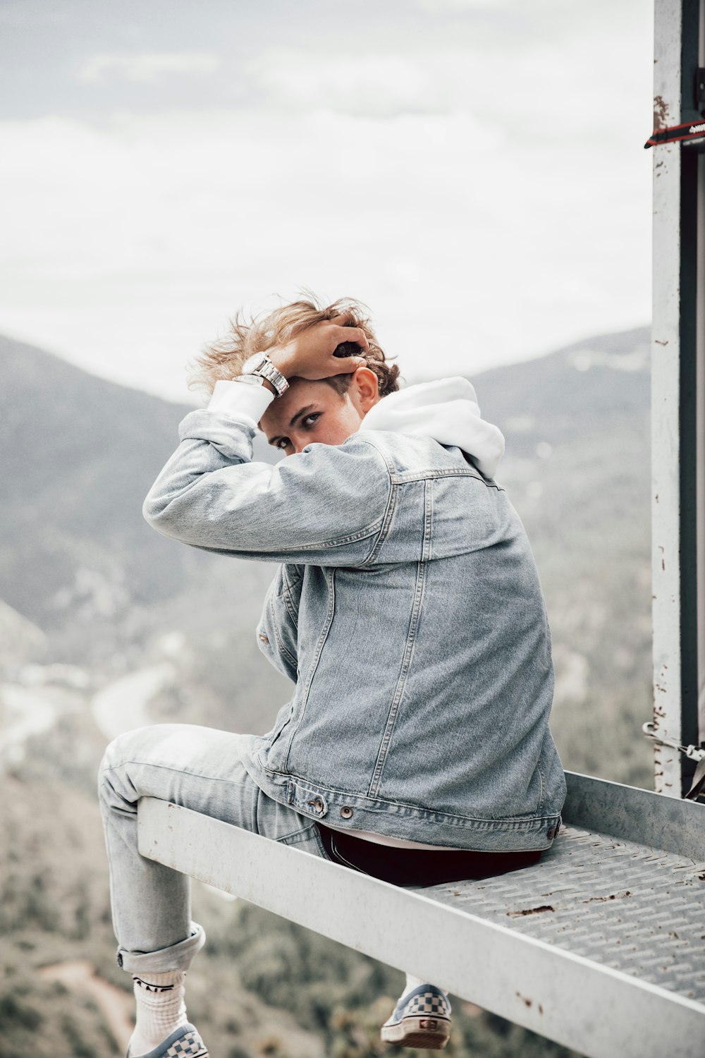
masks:
<path id="1" fill-rule="evenodd" d="M 366 376 L 371 376 L 371 380 Z M 348 393 L 342 396 L 328 382 L 292 379 L 284 395 L 272 401 L 260 426 L 270 444 L 287 456 L 314 441 L 342 444 L 359 430 L 378 399 L 376 391 L 376 376 L 368 368 L 355 371 Z"/>

